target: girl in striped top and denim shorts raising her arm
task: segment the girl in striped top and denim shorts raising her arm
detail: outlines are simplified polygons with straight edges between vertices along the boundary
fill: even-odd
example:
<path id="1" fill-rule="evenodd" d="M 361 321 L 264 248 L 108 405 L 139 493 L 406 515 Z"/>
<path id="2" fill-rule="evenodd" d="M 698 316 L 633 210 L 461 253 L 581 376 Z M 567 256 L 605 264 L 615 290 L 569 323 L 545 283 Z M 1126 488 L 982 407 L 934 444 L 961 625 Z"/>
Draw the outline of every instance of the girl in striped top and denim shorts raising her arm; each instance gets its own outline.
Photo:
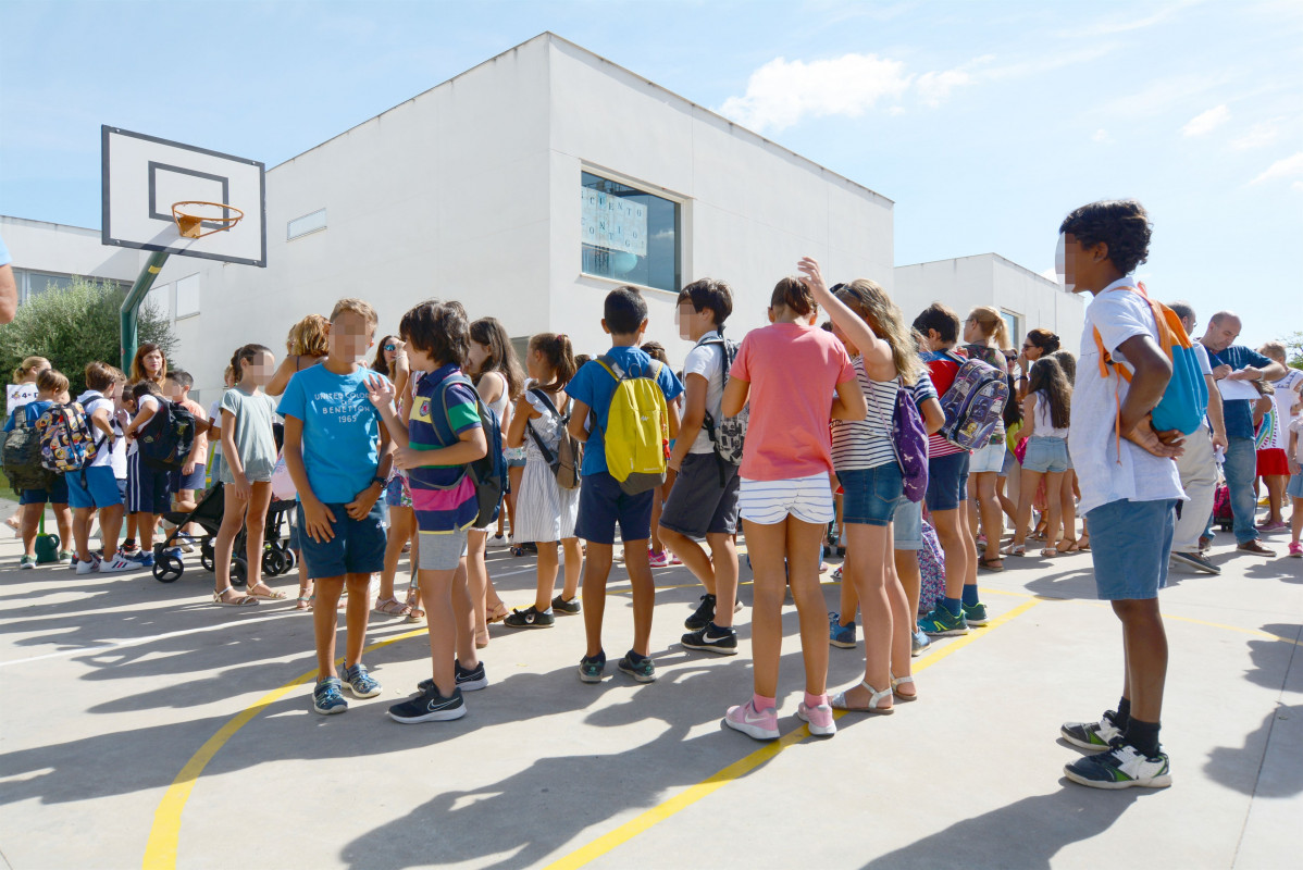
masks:
<path id="1" fill-rule="evenodd" d="M 893 710 L 893 693 L 900 701 L 917 697 L 909 673 L 915 620 L 893 565 L 891 520 L 903 478 L 891 418 L 896 391 L 913 383 L 921 363 L 900 309 L 881 287 L 860 279 L 833 296 L 817 263 L 808 260 L 803 270 L 814 300 L 833 318 L 833 333 L 852 354 L 856 383 L 869 409 L 863 421 L 833 421 L 833 465 L 843 488 L 846 531 L 842 583 L 855 589 L 864 613 L 865 668 L 860 685 L 834 697 L 831 707 L 885 714 Z"/>

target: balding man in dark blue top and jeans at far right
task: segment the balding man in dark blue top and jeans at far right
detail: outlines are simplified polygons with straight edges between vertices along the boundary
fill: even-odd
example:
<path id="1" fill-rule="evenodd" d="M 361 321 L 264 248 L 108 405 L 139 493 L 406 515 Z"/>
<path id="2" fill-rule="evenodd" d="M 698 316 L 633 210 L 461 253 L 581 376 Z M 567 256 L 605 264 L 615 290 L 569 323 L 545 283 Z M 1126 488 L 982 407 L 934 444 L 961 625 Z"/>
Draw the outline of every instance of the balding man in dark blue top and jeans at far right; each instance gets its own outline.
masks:
<path id="1" fill-rule="evenodd" d="M 1208 349 L 1213 365 L 1213 380 L 1222 399 L 1222 417 L 1226 426 L 1226 487 L 1230 490 L 1230 508 L 1235 517 L 1237 548 L 1257 556 L 1274 556 L 1276 551 L 1259 542 L 1253 514 L 1257 498 L 1253 495 L 1253 477 L 1257 471 L 1257 449 L 1253 444 L 1253 402 L 1259 393 L 1255 380 L 1280 380 L 1285 366 L 1256 350 L 1234 344 L 1239 337 L 1240 320 L 1233 311 L 1218 311 L 1208 322 L 1200 339 Z"/>

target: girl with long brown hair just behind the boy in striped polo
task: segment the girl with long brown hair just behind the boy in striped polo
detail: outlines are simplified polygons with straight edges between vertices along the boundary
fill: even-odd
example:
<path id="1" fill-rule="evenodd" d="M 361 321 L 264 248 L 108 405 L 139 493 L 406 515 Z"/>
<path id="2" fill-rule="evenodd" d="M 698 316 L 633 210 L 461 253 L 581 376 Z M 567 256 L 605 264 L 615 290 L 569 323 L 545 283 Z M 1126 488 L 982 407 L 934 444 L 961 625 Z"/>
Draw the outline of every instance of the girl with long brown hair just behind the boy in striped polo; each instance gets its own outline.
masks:
<path id="1" fill-rule="evenodd" d="M 511 346 L 507 330 L 495 318 L 480 318 L 470 324 L 470 345 L 466 354 L 466 374 L 476 384 L 480 399 L 489 410 L 498 414 L 498 425 L 502 431 L 507 431 L 511 423 L 511 404 L 520 399 L 525 391 L 525 372 L 520 369 L 516 350 Z M 508 471 L 511 491 L 520 490 L 520 478 L 524 466 Z M 507 496 L 508 512 L 515 511 L 515 496 Z M 515 516 L 515 513 L 512 513 Z M 524 539 L 515 534 L 516 526 L 512 521 L 512 535 L 516 544 Z M 507 606 L 502 603 L 498 591 L 493 587 L 489 577 L 489 567 L 485 564 L 485 548 L 489 542 L 489 529 L 472 529 L 466 539 L 466 570 L 470 572 L 470 600 L 476 606 L 476 643 L 481 647 L 489 645 L 489 624 L 500 623 L 507 617 Z"/>

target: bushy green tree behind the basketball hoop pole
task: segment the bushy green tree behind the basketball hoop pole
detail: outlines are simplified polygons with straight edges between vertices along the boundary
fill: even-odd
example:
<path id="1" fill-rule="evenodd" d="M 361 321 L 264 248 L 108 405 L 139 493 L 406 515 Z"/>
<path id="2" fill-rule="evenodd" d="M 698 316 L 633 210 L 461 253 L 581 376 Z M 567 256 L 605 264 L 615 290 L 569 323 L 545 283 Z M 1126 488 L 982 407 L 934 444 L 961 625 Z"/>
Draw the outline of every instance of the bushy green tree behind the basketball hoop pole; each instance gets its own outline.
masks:
<path id="1" fill-rule="evenodd" d="M 125 298 L 126 292 L 116 285 L 79 276 L 65 290 L 29 297 L 13 323 L 0 327 L 0 371 L 12 378 L 25 358 L 46 357 L 68 376 L 68 392 L 76 399 L 86 388 L 87 363 L 121 362 L 119 310 Z M 138 323 L 141 344 L 160 345 L 171 363 L 176 336 L 167 315 L 146 303 Z"/>

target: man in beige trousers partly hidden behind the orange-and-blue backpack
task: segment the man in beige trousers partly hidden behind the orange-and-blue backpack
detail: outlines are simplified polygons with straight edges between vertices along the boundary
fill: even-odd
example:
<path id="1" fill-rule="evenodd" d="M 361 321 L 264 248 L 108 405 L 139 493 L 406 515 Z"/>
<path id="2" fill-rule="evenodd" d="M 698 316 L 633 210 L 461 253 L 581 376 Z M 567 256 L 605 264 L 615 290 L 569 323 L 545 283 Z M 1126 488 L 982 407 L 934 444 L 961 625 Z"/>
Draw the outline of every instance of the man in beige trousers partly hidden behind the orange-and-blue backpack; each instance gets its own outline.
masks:
<path id="1" fill-rule="evenodd" d="M 1196 323 L 1194 307 L 1188 302 L 1173 302 L 1167 307 L 1181 318 L 1186 335 L 1194 335 Z M 1213 509 L 1213 495 L 1217 491 L 1217 460 L 1213 457 L 1213 449 L 1217 447 L 1226 449 L 1226 427 L 1222 422 L 1221 393 L 1213 382 L 1208 350 L 1197 341 L 1195 356 L 1199 357 L 1199 369 L 1208 383 L 1208 414 L 1199 428 L 1186 438 L 1186 452 L 1177 458 L 1181 487 L 1190 500 L 1181 505 L 1170 559 L 1178 565 L 1220 574 L 1221 568 L 1199 552 L 1199 535 L 1203 534 L 1208 514 Z"/>

